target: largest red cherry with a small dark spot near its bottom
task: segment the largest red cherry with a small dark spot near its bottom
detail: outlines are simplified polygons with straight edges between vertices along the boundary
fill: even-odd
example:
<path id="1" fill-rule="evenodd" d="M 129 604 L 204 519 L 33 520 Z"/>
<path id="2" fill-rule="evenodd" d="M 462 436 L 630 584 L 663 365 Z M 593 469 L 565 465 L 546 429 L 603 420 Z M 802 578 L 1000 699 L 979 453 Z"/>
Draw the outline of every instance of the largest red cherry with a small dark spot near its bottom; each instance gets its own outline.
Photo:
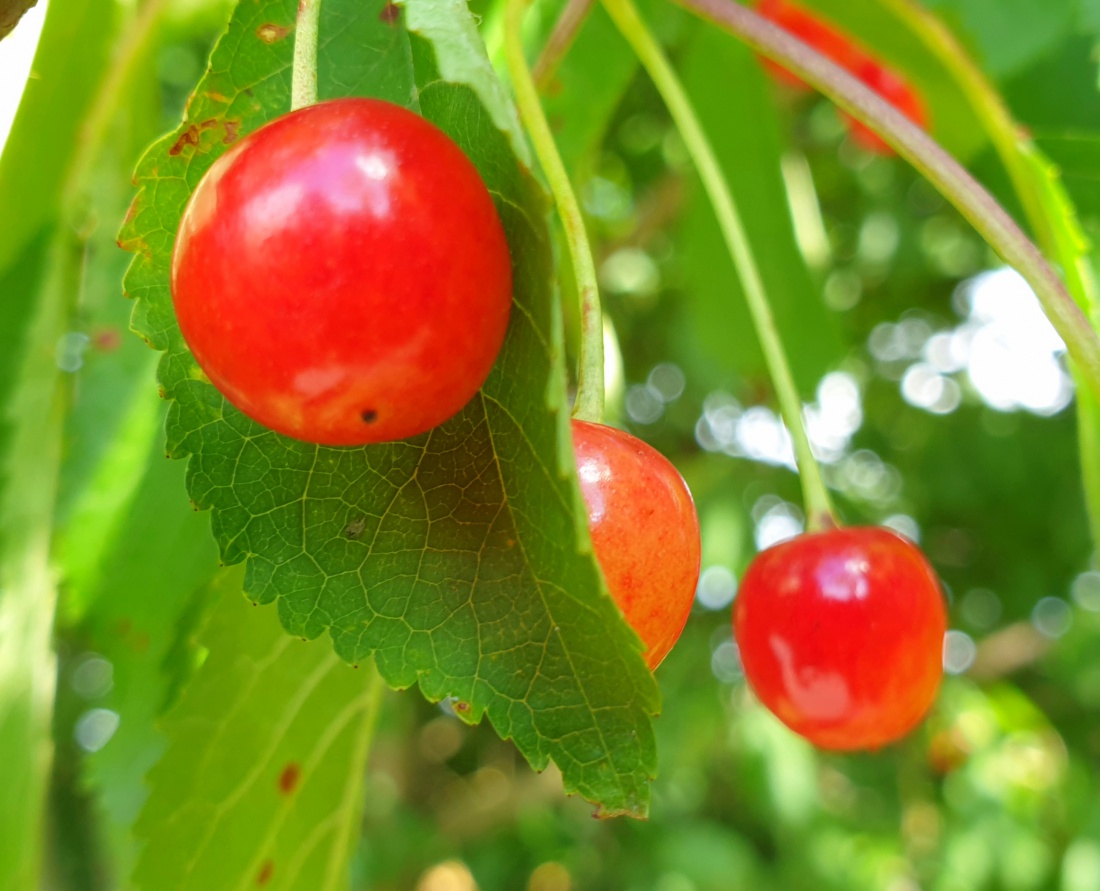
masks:
<path id="1" fill-rule="evenodd" d="M 179 223 L 172 296 L 230 403 L 288 437 L 358 446 L 421 433 L 474 396 L 504 341 L 512 262 L 447 134 L 337 99 L 213 163 Z"/>

